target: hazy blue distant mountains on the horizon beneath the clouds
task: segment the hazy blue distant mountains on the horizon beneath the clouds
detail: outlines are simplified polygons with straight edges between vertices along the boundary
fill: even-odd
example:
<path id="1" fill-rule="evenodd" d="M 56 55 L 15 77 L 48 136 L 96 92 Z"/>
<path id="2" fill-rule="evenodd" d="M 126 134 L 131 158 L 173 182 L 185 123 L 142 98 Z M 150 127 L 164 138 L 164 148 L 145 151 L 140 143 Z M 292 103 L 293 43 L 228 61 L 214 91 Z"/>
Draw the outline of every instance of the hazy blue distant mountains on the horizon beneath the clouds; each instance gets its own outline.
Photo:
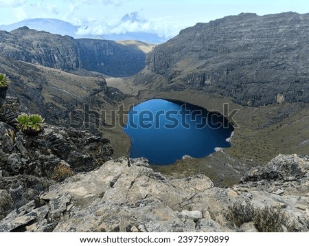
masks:
<path id="1" fill-rule="evenodd" d="M 137 17 L 134 13 L 126 14 L 121 22 L 135 21 Z M 124 41 L 124 40 L 136 40 L 146 43 L 163 43 L 167 41 L 167 38 L 160 37 L 157 34 L 146 32 L 126 32 L 125 34 L 104 34 L 104 35 L 79 35 L 77 34 L 79 28 L 86 28 L 78 25 L 72 25 L 66 21 L 60 21 L 58 19 L 26 19 L 10 25 L 0 25 L 0 30 L 11 32 L 19 27 L 29 27 L 30 29 L 50 32 L 52 34 L 60 34 L 62 36 L 68 35 L 73 38 L 93 38 L 93 39 L 106 39 L 111 41 Z"/>

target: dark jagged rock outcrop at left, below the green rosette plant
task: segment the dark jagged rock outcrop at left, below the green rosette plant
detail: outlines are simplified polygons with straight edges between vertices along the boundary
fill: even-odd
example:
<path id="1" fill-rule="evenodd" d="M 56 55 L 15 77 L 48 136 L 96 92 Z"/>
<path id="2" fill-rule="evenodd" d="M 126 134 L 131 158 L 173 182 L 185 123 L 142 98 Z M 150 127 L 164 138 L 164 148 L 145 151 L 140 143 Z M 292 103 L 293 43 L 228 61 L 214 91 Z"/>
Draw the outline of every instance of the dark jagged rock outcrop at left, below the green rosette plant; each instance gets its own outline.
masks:
<path id="1" fill-rule="evenodd" d="M 0 122 L 0 133 L 0 167 L 5 176 L 64 179 L 70 171 L 93 170 L 113 155 L 108 139 L 87 131 L 48 125 L 42 133 L 29 136 Z"/>

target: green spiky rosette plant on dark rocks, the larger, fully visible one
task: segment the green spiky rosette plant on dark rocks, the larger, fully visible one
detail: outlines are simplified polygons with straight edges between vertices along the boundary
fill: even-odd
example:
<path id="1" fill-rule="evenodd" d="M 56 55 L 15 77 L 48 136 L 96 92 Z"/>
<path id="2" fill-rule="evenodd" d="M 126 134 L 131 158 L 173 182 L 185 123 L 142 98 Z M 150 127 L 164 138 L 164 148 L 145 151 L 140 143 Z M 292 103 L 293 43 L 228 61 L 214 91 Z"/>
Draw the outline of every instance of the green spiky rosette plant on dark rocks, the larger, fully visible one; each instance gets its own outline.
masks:
<path id="1" fill-rule="evenodd" d="M 41 115 L 27 115 L 23 113 L 16 118 L 17 128 L 24 133 L 39 133 L 43 130 L 44 119 Z"/>

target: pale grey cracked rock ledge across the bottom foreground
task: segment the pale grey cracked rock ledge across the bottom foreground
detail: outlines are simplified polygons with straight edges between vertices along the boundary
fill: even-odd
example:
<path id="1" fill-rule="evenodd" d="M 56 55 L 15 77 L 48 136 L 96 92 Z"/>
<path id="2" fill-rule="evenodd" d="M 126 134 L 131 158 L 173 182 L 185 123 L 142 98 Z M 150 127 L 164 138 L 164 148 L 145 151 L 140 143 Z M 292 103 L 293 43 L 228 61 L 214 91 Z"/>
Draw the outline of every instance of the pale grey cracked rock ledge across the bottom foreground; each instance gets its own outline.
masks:
<path id="1" fill-rule="evenodd" d="M 225 219 L 227 205 L 251 201 L 283 208 L 295 220 L 295 230 L 308 232 L 308 157 L 281 155 L 304 169 L 295 180 L 254 181 L 216 188 L 205 175 L 171 179 L 154 172 L 145 159 L 107 161 L 98 170 L 78 173 L 49 187 L 34 203 L 14 210 L 0 221 L 2 232 L 234 232 L 241 228 Z M 284 166 L 277 166 L 284 172 Z M 278 189 L 284 190 L 277 194 Z"/>

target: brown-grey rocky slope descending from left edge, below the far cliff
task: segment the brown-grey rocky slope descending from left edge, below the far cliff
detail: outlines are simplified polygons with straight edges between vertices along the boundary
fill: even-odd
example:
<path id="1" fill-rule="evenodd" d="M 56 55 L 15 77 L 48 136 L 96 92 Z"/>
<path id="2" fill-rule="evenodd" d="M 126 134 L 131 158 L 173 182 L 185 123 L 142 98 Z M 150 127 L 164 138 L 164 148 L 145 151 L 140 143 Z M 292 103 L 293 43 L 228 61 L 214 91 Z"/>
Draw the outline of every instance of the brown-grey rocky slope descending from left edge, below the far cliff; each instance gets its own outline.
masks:
<path id="1" fill-rule="evenodd" d="M 1 56 L 0 73 L 11 78 L 8 93 L 19 99 L 23 109 L 40 113 L 52 123 L 67 124 L 69 113 L 83 104 L 108 109 L 126 98 L 119 90 L 108 87 L 102 76 L 78 76 Z"/>

